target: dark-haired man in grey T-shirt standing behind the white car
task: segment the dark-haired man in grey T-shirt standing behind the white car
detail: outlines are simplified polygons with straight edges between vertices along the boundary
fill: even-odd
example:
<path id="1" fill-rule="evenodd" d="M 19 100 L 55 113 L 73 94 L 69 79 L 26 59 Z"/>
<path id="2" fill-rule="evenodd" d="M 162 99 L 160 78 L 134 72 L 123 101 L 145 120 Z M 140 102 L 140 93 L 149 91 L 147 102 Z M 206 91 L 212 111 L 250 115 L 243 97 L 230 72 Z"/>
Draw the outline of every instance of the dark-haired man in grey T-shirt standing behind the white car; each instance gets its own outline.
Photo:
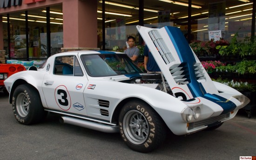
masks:
<path id="1" fill-rule="evenodd" d="M 127 48 L 124 53 L 126 53 L 128 55 L 128 57 L 130 57 L 130 59 L 136 64 L 138 65 L 138 58 L 139 58 L 139 52 L 140 50 L 135 47 L 135 38 L 133 36 L 129 36 L 127 38 L 127 42 L 129 45 L 129 48 Z"/>

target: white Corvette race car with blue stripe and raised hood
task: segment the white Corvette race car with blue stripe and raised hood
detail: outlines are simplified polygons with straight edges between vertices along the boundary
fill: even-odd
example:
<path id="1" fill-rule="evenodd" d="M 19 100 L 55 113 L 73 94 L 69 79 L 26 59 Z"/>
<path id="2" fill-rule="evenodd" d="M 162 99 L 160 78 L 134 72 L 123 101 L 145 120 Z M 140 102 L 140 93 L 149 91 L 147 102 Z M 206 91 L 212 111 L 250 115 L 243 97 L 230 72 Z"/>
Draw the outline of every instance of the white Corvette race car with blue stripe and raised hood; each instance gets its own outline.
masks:
<path id="1" fill-rule="evenodd" d="M 64 123 L 120 132 L 128 147 L 145 153 L 159 147 L 168 130 L 216 129 L 249 103 L 210 79 L 179 28 L 137 29 L 161 73 L 142 73 L 124 53 L 54 54 L 4 81 L 18 122 L 29 125 L 57 113 Z"/>

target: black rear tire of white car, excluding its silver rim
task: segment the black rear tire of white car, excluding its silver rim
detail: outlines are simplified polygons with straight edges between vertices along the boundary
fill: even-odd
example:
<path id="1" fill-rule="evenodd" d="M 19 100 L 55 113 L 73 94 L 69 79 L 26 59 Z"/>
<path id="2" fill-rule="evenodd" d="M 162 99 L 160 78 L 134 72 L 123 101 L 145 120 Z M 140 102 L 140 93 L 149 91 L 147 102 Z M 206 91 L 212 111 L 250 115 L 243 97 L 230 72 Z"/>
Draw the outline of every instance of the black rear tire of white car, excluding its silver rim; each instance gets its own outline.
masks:
<path id="1" fill-rule="evenodd" d="M 20 93 L 26 94 L 27 100 L 29 103 L 28 113 L 27 113 L 27 116 L 25 116 L 25 117 L 20 116 L 20 114 L 17 111 L 17 96 Z M 27 85 L 18 86 L 13 93 L 13 99 L 12 99 L 13 114 L 14 114 L 14 117 L 16 118 L 16 120 L 20 124 L 28 125 L 28 124 L 31 124 L 33 121 L 34 112 L 35 112 L 34 106 L 35 106 L 35 103 L 38 102 L 38 99 L 36 99 L 36 96 L 34 94 L 35 94 L 34 88 L 32 88 L 32 87 L 29 88 L 29 87 L 27 87 Z"/>

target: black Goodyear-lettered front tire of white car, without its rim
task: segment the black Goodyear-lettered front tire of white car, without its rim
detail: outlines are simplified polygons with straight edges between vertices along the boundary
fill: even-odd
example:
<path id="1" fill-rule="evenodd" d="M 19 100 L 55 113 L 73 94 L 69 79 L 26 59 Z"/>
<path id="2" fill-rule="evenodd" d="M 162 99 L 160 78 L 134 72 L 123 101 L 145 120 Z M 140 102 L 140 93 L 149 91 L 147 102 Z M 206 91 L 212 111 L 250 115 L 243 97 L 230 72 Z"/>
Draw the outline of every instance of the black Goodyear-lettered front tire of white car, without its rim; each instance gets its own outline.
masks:
<path id="1" fill-rule="evenodd" d="M 123 118 L 126 113 L 131 110 L 139 111 L 147 120 L 148 122 L 148 137 L 147 139 L 140 145 L 133 144 L 131 141 L 128 140 L 125 132 L 123 130 Z M 146 103 L 142 102 L 128 102 L 122 109 L 119 116 L 119 129 L 122 139 L 131 149 L 138 151 L 138 152 L 150 152 L 155 149 L 159 145 L 158 139 L 158 132 L 155 132 L 158 129 L 157 122 L 155 121 L 156 113 L 152 111 L 150 107 Z"/>

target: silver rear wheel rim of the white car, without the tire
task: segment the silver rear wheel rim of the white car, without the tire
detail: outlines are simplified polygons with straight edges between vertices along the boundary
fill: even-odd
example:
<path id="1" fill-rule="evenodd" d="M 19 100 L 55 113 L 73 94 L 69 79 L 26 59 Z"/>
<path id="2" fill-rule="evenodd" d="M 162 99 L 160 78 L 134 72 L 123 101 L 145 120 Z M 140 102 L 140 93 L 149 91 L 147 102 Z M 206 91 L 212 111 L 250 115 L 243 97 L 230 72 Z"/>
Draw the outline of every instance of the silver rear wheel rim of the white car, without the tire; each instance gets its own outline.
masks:
<path id="1" fill-rule="evenodd" d="M 26 117 L 29 111 L 29 101 L 25 93 L 20 93 L 16 99 L 17 112 L 21 117 Z"/>

